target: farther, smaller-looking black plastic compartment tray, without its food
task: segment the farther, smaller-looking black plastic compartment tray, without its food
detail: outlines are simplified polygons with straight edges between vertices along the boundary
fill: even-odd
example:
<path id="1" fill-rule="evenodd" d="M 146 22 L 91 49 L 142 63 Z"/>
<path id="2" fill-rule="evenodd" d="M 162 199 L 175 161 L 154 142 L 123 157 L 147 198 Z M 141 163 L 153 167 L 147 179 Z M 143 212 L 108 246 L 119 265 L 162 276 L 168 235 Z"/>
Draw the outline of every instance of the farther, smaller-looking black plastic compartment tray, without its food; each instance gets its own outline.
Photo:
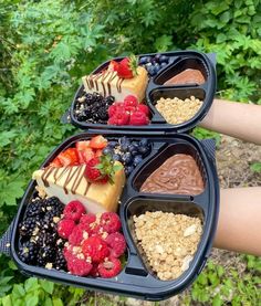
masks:
<path id="1" fill-rule="evenodd" d="M 143 56 L 154 56 L 157 53 L 142 54 Z M 177 52 L 165 52 L 161 53 L 169 56 L 169 63 L 161 68 L 158 74 L 149 78 L 148 86 L 146 89 L 146 104 L 150 109 L 150 124 L 143 126 L 114 126 L 114 125 L 103 125 L 103 124 L 91 124 L 86 122 L 80 122 L 74 115 L 75 104 L 79 97 L 84 94 L 84 86 L 81 85 L 74 96 L 74 99 L 71 104 L 70 109 L 63 116 L 64 123 L 72 123 L 74 126 L 80 127 L 81 129 L 108 129 L 108 130 L 165 130 L 173 133 L 185 133 L 192 127 L 195 127 L 207 114 L 209 110 L 215 92 L 216 92 L 216 71 L 212 54 L 203 54 L 196 51 L 177 51 Z M 115 61 L 121 61 L 123 57 L 113 59 Z M 93 71 L 93 74 L 104 70 L 111 61 L 107 61 L 100 65 L 96 70 Z M 165 82 L 173 72 L 181 72 L 185 68 L 197 68 L 202 75 L 205 75 L 206 82 L 201 85 L 189 84 L 189 85 L 174 85 L 166 86 L 161 83 Z M 155 102 L 158 97 L 179 97 L 185 99 L 191 95 L 203 101 L 202 107 L 199 112 L 188 122 L 170 125 L 155 108 Z"/>

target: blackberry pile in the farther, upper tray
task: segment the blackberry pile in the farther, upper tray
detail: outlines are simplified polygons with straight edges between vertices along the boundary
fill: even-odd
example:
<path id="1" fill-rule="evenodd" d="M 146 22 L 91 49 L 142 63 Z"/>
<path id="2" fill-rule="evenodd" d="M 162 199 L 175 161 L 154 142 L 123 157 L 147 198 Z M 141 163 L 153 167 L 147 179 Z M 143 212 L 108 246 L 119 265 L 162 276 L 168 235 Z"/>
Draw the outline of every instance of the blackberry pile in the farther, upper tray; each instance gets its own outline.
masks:
<path id="1" fill-rule="evenodd" d="M 74 116 L 79 122 L 106 124 L 107 109 L 114 103 L 113 96 L 103 97 L 98 93 L 86 93 L 76 99 Z"/>

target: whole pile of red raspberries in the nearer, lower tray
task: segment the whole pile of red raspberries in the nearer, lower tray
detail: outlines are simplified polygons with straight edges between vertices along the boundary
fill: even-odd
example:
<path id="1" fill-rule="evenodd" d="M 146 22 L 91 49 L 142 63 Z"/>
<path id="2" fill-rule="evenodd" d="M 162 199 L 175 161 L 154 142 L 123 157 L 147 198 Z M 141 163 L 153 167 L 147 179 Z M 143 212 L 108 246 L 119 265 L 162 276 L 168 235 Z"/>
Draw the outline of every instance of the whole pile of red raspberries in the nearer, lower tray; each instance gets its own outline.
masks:
<path id="1" fill-rule="evenodd" d="M 122 271 L 118 257 L 126 250 L 118 215 L 86 213 L 79 201 L 70 202 L 63 214 L 58 233 L 67 240 L 63 253 L 69 272 L 79 276 L 116 276 Z"/>

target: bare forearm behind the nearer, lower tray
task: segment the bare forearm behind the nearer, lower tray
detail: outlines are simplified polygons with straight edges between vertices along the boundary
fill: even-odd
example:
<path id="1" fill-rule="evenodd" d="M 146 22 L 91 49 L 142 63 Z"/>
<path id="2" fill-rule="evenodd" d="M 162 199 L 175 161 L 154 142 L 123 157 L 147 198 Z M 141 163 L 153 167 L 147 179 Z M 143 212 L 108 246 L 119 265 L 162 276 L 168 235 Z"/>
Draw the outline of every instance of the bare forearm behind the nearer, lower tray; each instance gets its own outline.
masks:
<path id="1" fill-rule="evenodd" d="M 261 256 L 261 187 L 221 190 L 215 246 Z"/>

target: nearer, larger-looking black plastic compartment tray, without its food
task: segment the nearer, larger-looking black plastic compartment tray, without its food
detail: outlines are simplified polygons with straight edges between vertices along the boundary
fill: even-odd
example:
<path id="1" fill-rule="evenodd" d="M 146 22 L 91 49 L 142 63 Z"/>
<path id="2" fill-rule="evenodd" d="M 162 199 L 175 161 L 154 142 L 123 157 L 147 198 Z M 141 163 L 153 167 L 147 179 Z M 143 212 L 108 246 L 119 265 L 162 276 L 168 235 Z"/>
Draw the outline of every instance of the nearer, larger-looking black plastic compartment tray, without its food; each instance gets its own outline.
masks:
<path id="1" fill-rule="evenodd" d="M 135 296 L 149 300 L 160 300 L 185 289 L 201 272 L 211 249 L 219 210 L 219 186 L 211 144 L 207 146 L 206 149 L 200 141 L 187 135 L 175 135 L 169 137 L 163 136 L 161 134 L 152 135 L 152 133 L 148 131 L 135 135 L 124 131 L 124 134 L 128 134 L 127 137 L 135 140 L 146 137 L 152 145 L 152 152 L 135 168 L 127 180 L 121 199 L 119 215 L 123 233 L 127 242 L 126 266 L 116 277 L 106 279 L 101 277 L 81 277 L 61 271 L 24 264 L 18 256 L 18 225 L 23 219 L 27 204 L 35 194 L 35 181 L 31 181 L 19 207 L 11 236 L 11 255 L 23 273 L 49 278 L 66 285 Z M 108 140 L 118 139 L 118 137 L 122 136 L 115 131 L 104 131 L 103 135 Z M 90 139 L 92 136 L 92 133 L 83 133 L 70 137 L 46 158 L 42 167 L 49 165 L 49 162 L 65 148 L 73 146 L 79 140 Z M 155 162 L 158 162 L 158 160 L 164 162 L 164 159 L 169 155 L 177 152 L 189 154 L 196 159 L 203 177 L 205 191 L 194 197 L 139 192 L 139 178 L 144 176 L 144 171 L 153 171 Z M 189 268 L 177 279 L 158 279 L 149 267 L 146 266 L 146 263 L 140 256 L 140 250 L 138 250 L 134 243 L 130 217 L 133 214 L 143 213 L 147 209 L 150 211 L 163 210 L 187 213 L 188 215 L 199 215 L 202 219 L 203 233 L 198 245 L 198 251 Z"/>

